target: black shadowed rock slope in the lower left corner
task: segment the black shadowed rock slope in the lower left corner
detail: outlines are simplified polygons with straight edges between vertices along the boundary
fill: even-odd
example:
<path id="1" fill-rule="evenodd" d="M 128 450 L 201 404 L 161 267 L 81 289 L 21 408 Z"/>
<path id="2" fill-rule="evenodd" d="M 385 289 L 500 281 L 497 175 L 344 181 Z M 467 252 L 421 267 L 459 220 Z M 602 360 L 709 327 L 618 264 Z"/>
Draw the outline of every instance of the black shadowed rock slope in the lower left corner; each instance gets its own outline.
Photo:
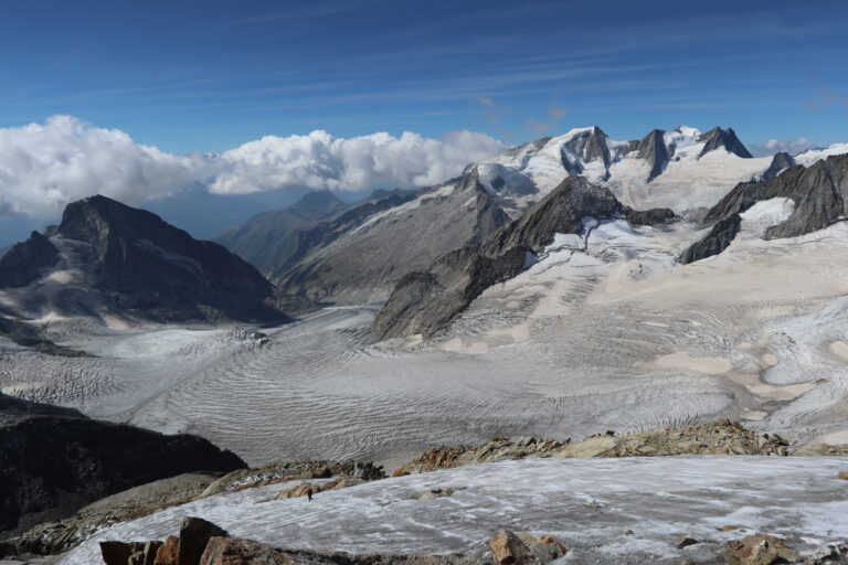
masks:
<path id="1" fill-rule="evenodd" d="M 66 412 L 0 424 L 0 532 L 65 518 L 108 494 L 167 477 L 246 467 L 197 436 L 165 436 Z"/>

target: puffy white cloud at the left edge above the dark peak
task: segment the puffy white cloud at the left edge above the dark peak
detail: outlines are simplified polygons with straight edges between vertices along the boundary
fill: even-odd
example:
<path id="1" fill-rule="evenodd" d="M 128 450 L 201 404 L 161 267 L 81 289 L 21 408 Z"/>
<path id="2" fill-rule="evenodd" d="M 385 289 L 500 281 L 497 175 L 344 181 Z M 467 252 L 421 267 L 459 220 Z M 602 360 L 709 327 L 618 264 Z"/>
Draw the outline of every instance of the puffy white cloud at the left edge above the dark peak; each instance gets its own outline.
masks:
<path id="1" fill-rule="evenodd" d="M 68 202 L 95 193 L 136 204 L 193 180 L 189 158 L 71 116 L 0 128 L 0 211 L 6 214 L 54 218 Z"/>

